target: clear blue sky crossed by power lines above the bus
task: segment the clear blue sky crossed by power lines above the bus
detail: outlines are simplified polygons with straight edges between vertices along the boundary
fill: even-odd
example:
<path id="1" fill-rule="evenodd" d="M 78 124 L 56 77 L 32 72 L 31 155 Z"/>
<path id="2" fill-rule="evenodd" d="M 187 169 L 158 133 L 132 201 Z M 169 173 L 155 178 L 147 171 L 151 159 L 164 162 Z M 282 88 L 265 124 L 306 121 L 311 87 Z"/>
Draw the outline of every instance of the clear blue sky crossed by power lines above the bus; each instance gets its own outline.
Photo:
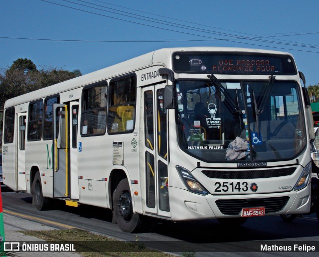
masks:
<path id="1" fill-rule="evenodd" d="M 319 83 L 318 0 L 2 0 L 0 7 L 0 68 L 27 58 L 86 74 L 164 47 L 229 46 L 290 52 L 306 85 Z"/>

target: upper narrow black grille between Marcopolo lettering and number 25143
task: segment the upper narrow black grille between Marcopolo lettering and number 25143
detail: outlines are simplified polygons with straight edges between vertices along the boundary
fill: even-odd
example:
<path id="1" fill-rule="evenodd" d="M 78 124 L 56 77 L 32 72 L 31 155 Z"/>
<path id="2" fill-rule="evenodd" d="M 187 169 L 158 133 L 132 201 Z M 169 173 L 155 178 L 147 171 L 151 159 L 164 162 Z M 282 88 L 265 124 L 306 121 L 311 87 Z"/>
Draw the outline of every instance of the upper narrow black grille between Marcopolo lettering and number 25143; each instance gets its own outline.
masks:
<path id="1" fill-rule="evenodd" d="M 202 173 L 209 178 L 253 179 L 289 176 L 293 174 L 295 170 L 296 167 L 263 170 L 202 170 Z"/>

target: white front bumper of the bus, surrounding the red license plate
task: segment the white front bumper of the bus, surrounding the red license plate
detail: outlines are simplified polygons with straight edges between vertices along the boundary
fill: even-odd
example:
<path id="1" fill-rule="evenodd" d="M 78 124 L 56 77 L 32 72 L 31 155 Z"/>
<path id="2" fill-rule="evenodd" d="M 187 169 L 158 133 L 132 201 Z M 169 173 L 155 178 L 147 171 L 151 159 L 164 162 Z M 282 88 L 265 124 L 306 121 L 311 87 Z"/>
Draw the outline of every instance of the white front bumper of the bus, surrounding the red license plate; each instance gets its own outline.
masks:
<path id="1" fill-rule="evenodd" d="M 170 187 L 169 195 L 173 221 L 241 217 L 248 207 L 265 207 L 265 215 L 303 214 L 310 211 L 311 185 L 297 192 L 206 196 Z"/>

